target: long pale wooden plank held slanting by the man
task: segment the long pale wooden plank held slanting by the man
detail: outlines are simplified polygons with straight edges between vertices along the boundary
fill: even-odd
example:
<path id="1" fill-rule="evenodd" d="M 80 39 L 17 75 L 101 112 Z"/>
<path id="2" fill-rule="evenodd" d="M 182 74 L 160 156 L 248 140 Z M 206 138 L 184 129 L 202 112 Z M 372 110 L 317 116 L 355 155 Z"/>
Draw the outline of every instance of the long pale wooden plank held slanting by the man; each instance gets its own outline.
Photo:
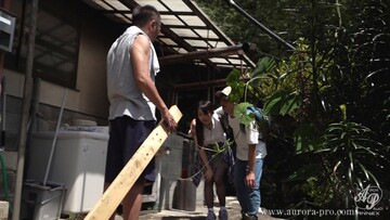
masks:
<path id="1" fill-rule="evenodd" d="M 169 113 L 177 122 L 182 117 L 182 113 L 176 105 L 169 108 Z M 162 121 L 160 121 L 126 164 L 84 220 L 106 220 L 114 213 L 168 135 L 168 131 L 162 126 Z"/>

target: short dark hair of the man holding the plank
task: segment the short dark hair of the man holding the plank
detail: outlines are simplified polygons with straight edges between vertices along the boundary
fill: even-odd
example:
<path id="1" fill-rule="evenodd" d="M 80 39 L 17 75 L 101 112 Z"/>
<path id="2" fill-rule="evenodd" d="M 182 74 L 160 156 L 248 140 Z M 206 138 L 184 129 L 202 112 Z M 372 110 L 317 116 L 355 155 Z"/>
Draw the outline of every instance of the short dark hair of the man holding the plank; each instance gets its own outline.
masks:
<path id="1" fill-rule="evenodd" d="M 146 25 L 153 18 L 160 22 L 160 15 L 157 9 L 148 4 L 136 7 L 132 12 L 133 25 L 139 27 Z"/>

